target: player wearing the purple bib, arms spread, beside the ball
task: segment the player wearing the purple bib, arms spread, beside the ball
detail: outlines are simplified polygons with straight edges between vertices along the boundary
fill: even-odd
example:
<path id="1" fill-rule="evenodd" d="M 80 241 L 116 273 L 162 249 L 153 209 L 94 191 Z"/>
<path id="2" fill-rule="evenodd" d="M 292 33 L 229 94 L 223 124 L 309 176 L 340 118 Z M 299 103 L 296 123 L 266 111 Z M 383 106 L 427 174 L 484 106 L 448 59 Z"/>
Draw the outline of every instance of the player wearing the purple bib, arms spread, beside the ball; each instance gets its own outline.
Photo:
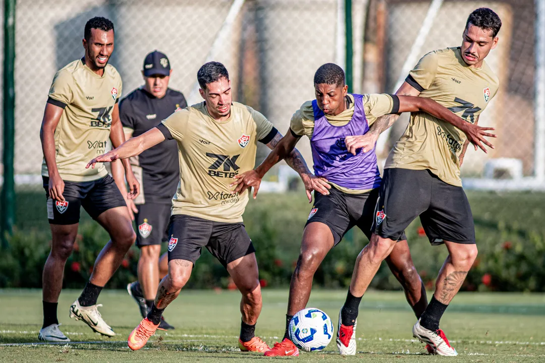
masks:
<path id="1" fill-rule="evenodd" d="M 367 150 L 347 149 L 345 138 L 365 134 L 381 115 L 417 110 L 431 113 L 460 127 L 466 126 L 462 119 L 431 99 L 386 94 L 348 94 L 343 70 L 332 63 L 318 68 L 314 75 L 314 90 L 316 100 L 305 102 L 295 112 L 289 132 L 265 161 L 255 170 L 235 176 L 237 181 L 233 182 L 233 185 L 238 184 L 235 192 L 242 193 L 251 186 L 256 194 L 265 173 L 288 155 L 300 138 L 306 135 L 311 143 L 314 173 L 320 177 L 313 186 L 320 192 L 326 192 L 325 195 L 316 194 L 314 206 L 308 214 L 301 254 L 289 289 L 284 338 L 265 352 L 267 356 L 299 355 L 298 348 L 289 339 L 289 321 L 296 312 L 305 308 L 314 273 L 329 250 L 353 226 L 358 226 L 371 238 L 373 211 L 381 183 L 374 144 Z M 482 130 L 476 126 L 466 128 L 471 129 L 473 138 L 482 138 Z M 311 200 L 308 191 L 307 196 Z M 415 315 L 420 316 L 426 308 L 426 291 L 414 267 L 403 232 L 399 233 L 397 240 L 400 242 L 387 257 L 387 263 L 401 282 Z M 350 292 L 348 297 L 352 299 Z M 344 307 L 344 310 L 352 309 L 352 305 Z M 341 354 L 352 355 L 356 351 L 356 317 L 351 314 L 351 321 L 346 317 L 340 313 L 337 347 Z"/>

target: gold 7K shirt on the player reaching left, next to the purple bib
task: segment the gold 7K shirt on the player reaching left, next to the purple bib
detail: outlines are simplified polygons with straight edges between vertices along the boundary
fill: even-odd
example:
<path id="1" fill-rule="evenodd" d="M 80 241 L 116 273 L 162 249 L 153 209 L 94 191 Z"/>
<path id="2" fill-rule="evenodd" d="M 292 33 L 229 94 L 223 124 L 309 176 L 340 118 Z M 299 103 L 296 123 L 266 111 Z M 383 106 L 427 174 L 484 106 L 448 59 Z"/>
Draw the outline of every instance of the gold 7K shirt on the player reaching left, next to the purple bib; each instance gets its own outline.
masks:
<path id="1" fill-rule="evenodd" d="M 257 141 L 268 143 L 276 129 L 261 113 L 233 102 L 225 121 L 214 120 L 201 102 L 162 121 L 178 142 L 180 183 L 172 214 L 215 222 L 242 222 L 248 193 L 232 195 L 237 174 L 253 169 Z M 159 126 L 161 130 L 161 125 Z"/>

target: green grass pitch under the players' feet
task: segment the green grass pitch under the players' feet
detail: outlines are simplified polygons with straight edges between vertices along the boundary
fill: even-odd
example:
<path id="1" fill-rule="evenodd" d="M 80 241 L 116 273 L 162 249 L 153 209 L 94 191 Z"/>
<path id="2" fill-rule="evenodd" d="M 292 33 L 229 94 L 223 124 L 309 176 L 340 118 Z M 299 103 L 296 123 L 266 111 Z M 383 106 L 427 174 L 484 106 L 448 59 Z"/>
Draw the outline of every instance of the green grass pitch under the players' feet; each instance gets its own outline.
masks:
<path id="1" fill-rule="evenodd" d="M 116 331 L 111 339 L 93 333 L 87 325 L 68 317 L 68 308 L 79 291 L 64 290 L 59 301 L 62 330 L 68 345 L 37 343 L 41 325 L 41 292 L 0 290 L 0 361 L 198 361 L 239 362 L 267 360 L 237 348 L 240 327 L 236 291 L 188 290 L 165 312 L 177 329 L 159 332 L 142 350 L 126 345 L 130 331 L 140 321 L 136 304 L 125 291 L 104 291 L 99 303 L 102 316 Z M 308 306 L 323 309 L 336 328 L 338 309 L 346 291 L 316 290 Z M 287 291 L 264 290 L 263 312 L 256 334 L 270 345 L 282 335 Z M 301 353 L 301 362 L 539 362 L 545 361 L 545 294 L 461 293 L 441 321 L 458 358 L 429 356 L 413 339 L 414 316 L 401 292 L 368 292 L 358 318 L 358 354 L 341 357 L 335 342 L 323 353 Z M 289 358 L 277 358 L 289 359 Z"/>

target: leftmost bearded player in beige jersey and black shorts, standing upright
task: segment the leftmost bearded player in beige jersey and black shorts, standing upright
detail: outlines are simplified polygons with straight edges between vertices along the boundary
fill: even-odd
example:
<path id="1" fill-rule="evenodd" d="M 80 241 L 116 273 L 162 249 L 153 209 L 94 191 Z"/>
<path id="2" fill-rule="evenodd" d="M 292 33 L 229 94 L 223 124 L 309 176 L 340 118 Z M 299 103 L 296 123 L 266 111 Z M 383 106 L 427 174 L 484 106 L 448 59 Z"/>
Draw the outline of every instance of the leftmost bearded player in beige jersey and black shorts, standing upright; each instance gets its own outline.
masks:
<path id="1" fill-rule="evenodd" d="M 96 258 L 80 297 L 70 306 L 70 317 L 81 319 L 102 335 L 115 335 L 100 316 L 101 305 L 96 305 L 96 299 L 136 236 L 124 196 L 116 186 L 125 183 L 123 175 L 114 173 L 114 181 L 104 165 L 85 168 L 89 158 L 104 153 L 108 137 L 113 146 L 125 141 L 117 104 L 121 77 L 108 64 L 113 52 L 113 32 L 113 23 L 104 17 L 94 17 L 85 24 L 85 55 L 56 73 L 45 106 L 40 129 L 44 151 L 41 175 L 53 243 L 44 266 L 44 323 L 39 340 L 70 341 L 58 328 L 57 302 L 64 264 L 77 235 L 80 206 L 108 231 L 111 240 Z M 131 199 L 140 187 L 128 161 L 123 161 L 123 167 L 130 186 L 126 198 Z"/>

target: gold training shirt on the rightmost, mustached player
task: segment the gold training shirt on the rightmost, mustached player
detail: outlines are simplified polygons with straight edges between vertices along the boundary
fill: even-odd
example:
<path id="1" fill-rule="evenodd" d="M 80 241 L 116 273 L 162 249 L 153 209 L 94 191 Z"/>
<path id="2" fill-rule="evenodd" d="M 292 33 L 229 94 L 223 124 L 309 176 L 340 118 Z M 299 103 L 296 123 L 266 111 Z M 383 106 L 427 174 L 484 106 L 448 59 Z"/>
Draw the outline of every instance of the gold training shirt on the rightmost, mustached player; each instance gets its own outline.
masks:
<path id="1" fill-rule="evenodd" d="M 420 96 L 437 101 L 472 124 L 499 87 L 488 64 L 483 61 L 480 68 L 469 67 L 459 47 L 426 54 L 405 81 L 421 91 Z M 429 169 L 444 182 L 461 187 L 459 156 L 465 140 L 465 134 L 446 121 L 413 112 L 384 168 Z"/>

